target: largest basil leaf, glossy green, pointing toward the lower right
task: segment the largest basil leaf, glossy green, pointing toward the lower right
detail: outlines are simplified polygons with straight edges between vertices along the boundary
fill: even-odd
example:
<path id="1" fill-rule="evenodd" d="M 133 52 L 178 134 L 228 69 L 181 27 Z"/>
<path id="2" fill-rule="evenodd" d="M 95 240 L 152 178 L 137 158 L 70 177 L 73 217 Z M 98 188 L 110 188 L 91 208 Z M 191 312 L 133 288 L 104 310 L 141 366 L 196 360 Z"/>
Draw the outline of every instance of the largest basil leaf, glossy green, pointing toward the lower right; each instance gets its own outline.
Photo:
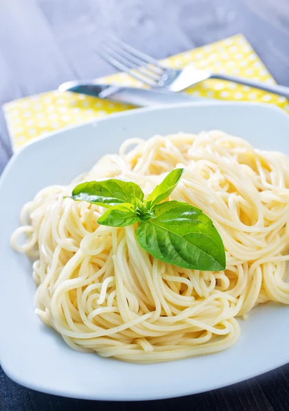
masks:
<path id="1" fill-rule="evenodd" d="M 158 260 L 203 271 L 226 266 L 224 245 L 211 219 L 187 203 L 167 201 L 155 206 L 155 217 L 137 227 L 137 240 Z"/>

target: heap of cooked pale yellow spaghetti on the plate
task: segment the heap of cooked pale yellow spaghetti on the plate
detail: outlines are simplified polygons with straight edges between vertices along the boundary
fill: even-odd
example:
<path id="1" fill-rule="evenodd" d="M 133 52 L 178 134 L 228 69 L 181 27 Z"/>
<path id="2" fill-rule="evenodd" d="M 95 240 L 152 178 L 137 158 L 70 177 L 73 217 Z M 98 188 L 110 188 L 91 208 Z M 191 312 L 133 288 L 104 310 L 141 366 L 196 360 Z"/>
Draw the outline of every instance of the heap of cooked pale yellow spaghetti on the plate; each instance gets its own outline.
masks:
<path id="1" fill-rule="evenodd" d="M 144 251 L 136 225 L 104 227 L 105 211 L 65 198 L 78 182 L 111 177 L 147 195 L 185 169 L 170 199 L 211 218 L 224 271 L 192 271 Z M 69 186 L 38 192 L 21 212 L 12 246 L 34 259 L 36 313 L 68 345 L 129 362 L 161 362 L 231 347 L 236 316 L 266 301 L 289 303 L 289 160 L 219 131 L 126 140 Z M 20 243 L 25 233 L 27 241 Z"/>

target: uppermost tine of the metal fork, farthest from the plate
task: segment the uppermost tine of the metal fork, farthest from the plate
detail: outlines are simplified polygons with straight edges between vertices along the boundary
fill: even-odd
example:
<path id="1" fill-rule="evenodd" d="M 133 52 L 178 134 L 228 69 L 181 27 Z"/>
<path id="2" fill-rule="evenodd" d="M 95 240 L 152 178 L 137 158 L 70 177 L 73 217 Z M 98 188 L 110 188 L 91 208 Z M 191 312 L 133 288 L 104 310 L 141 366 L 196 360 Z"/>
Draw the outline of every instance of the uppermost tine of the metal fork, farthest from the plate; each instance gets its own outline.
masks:
<path id="1" fill-rule="evenodd" d="M 115 36 L 110 36 L 108 42 L 110 42 L 111 47 L 116 49 L 119 53 L 122 53 L 122 55 L 130 61 L 135 62 L 138 66 L 146 66 L 150 71 L 153 71 L 157 75 L 162 75 L 164 73 L 165 68 L 161 67 L 157 60 L 150 58 L 150 56 L 146 56 L 146 54 L 141 53 L 141 51 L 138 51 L 134 47 L 126 45 L 125 42 L 118 40 Z M 139 55 L 145 55 L 151 61 L 148 61 L 148 59 L 144 60 L 143 58 L 140 58 Z M 150 66 L 148 66 L 148 64 L 150 64 Z"/>

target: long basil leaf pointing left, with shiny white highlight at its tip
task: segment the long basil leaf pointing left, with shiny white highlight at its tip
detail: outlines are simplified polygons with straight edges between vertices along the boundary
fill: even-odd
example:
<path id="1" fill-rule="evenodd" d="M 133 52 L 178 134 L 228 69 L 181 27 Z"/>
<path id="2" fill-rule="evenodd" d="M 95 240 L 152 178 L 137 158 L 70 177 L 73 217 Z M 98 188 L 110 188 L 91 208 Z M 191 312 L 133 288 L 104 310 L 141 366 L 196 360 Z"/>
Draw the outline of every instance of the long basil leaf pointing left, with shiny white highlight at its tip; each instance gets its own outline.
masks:
<path id="1" fill-rule="evenodd" d="M 103 182 L 86 182 L 74 188 L 71 198 L 76 201 L 88 201 L 109 208 L 121 203 L 137 203 L 143 200 L 143 192 L 135 183 L 119 179 L 107 179 Z"/>

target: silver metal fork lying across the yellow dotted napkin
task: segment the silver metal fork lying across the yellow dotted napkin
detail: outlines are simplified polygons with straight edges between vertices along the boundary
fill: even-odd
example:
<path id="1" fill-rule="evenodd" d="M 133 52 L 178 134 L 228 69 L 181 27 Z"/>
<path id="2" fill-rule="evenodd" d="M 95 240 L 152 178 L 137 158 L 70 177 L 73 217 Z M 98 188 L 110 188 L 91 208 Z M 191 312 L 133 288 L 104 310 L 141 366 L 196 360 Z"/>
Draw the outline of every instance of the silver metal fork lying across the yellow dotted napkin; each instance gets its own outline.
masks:
<path id="1" fill-rule="evenodd" d="M 98 53 L 116 69 L 129 73 L 135 79 L 152 88 L 162 88 L 163 90 L 176 92 L 205 79 L 222 79 L 289 98 L 289 88 L 285 86 L 268 85 L 244 77 L 210 73 L 209 71 L 195 69 L 193 64 L 187 64 L 181 70 L 169 69 L 150 57 L 150 55 L 112 36 L 100 47 Z"/>

